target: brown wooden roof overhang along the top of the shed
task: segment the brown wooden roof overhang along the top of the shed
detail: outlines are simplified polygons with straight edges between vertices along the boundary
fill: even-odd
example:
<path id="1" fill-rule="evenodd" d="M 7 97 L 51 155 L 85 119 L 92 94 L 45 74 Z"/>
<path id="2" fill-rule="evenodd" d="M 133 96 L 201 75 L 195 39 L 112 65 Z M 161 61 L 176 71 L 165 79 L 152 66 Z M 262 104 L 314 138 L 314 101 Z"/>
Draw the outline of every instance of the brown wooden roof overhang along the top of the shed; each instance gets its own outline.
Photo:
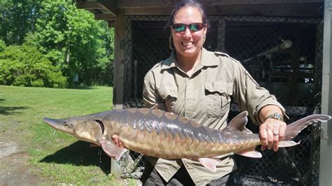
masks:
<path id="1" fill-rule="evenodd" d="M 207 15 L 322 17 L 324 0 L 202 0 Z M 177 1 L 76 0 L 78 8 L 95 14 L 96 20 L 113 21 L 119 9 L 125 15 L 170 15 Z"/>

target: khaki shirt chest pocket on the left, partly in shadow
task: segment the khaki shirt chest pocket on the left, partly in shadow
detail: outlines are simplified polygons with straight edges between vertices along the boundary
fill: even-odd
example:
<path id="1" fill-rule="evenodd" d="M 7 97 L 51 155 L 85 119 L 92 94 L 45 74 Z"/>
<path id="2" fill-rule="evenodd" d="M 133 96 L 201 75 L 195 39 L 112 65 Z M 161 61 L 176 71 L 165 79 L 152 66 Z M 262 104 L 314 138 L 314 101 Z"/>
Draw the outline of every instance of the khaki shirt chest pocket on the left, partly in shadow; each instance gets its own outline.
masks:
<path id="1" fill-rule="evenodd" d="M 163 85 L 158 89 L 160 98 L 165 101 L 166 111 L 174 113 L 175 103 L 177 101 L 177 87 L 172 85 Z"/>

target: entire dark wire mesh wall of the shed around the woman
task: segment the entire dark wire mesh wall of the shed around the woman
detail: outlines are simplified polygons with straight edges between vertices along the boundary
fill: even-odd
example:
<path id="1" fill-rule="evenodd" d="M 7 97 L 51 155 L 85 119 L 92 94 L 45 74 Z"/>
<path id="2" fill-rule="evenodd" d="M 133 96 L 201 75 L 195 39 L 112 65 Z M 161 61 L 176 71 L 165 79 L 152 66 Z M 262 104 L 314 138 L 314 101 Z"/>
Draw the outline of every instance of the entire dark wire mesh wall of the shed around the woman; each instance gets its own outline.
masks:
<path id="1" fill-rule="evenodd" d="M 142 107 L 141 92 L 146 72 L 167 59 L 170 29 L 167 17 L 130 16 L 125 24 L 124 108 Z M 205 48 L 227 52 L 238 59 L 260 85 L 286 108 L 291 123 L 320 112 L 322 29 L 317 19 L 282 17 L 209 17 Z M 239 113 L 236 104 L 229 118 Z M 248 125 L 258 132 L 254 124 Z M 235 156 L 235 182 L 256 184 L 317 185 L 319 127 L 309 127 L 295 139 L 294 148 L 263 158 Z M 318 145 L 317 145 L 318 144 Z M 259 150 L 259 148 L 257 148 Z M 123 159 L 123 177 L 139 178 L 144 170 L 141 155 L 130 152 Z"/>

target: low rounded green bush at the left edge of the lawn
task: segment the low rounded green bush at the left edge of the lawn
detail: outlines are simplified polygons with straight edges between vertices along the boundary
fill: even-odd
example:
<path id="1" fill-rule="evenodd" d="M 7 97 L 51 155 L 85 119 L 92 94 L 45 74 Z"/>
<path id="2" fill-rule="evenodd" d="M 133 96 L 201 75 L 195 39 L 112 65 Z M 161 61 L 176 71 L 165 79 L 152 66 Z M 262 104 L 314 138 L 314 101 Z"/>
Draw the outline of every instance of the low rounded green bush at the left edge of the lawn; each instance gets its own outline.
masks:
<path id="1" fill-rule="evenodd" d="M 67 78 L 35 47 L 11 45 L 0 52 L 0 84 L 63 88 Z"/>

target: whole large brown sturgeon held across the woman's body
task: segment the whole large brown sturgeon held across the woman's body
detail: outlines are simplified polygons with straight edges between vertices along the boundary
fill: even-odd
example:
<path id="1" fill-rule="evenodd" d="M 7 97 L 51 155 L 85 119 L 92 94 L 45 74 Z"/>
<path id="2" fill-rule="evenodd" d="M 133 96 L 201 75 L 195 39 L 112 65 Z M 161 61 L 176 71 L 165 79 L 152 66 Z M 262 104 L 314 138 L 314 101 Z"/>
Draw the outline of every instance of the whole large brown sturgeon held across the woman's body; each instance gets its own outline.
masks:
<path id="1" fill-rule="evenodd" d="M 164 159 L 193 159 L 215 171 L 218 159 L 230 152 L 247 157 L 261 157 L 255 151 L 261 145 L 258 134 L 245 127 L 247 111 L 233 118 L 223 130 L 214 130 L 188 120 L 186 117 L 150 108 L 109 110 L 102 113 L 71 117 L 62 120 L 44 118 L 51 127 L 74 135 L 83 141 L 102 145 L 110 157 L 120 159 L 127 149 L 143 155 Z M 279 147 L 298 143 L 291 141 L 312 122 L 330 120 L 329 115 L 309 115 L 286 127 Z M 112 140 L 117 135 L 126 148 L 119 148 Z"/>

